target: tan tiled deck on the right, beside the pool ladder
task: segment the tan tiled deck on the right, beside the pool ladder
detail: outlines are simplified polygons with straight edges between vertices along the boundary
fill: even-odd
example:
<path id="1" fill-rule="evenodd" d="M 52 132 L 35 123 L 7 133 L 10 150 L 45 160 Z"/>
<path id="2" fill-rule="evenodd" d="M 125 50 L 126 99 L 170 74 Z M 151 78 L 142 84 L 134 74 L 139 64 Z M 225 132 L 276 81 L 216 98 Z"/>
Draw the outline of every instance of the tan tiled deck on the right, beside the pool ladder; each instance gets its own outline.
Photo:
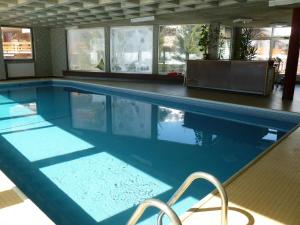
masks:
<path id="1" fill-rule="evenodd" d="M 229 225 L 300 224 L 300 128 L 226 186 Z M 214 195 L 190 209 L 183 225 L 220 224 Z"/>

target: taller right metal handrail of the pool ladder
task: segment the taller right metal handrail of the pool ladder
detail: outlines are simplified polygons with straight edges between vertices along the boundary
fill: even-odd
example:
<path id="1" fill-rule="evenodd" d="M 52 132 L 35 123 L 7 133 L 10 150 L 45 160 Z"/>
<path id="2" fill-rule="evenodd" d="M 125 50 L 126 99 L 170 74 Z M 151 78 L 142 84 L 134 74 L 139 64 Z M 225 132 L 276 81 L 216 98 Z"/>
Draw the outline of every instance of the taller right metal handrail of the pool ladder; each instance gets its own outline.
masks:
<path id="1" fill-rule="evenodd" d="M 222 225 L 228 225 L 228 197 L 226 194 L 225 189 L 223 188 L 222 184 L 220 181 L 212 176 L 209 173 L 205 172 L 195 172 L 192 173 L 184 182 L 183 184 L 178 188 L 178 190 L 174 193 L 174 195 L 170 198 L 168 201 L 168 205 L 172 207 L 177 200 L 184 194 L 184 192 L 188 189 L 188 187 L 197 179 L 204 179 L 209 182 L 211 182 L 219 191 L 220 196 L 221 196 L 221 210 L 222 210 L 222 215 L 221 215 L 221 224 Z M 164 216 L 164 212 L 160 212 L 157 218 L 157 225 L 162 224 L 162 218 Z"/>

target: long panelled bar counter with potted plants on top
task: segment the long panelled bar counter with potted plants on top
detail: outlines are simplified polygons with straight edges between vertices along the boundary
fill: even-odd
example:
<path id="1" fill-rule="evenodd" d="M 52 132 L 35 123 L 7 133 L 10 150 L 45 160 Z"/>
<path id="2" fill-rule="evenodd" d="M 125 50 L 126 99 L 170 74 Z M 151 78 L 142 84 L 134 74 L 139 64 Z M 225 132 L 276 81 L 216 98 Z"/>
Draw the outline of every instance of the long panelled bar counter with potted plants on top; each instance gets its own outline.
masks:
<path id="1" fill-rule="evenodd" d="M 188 60 L 186 85 L 269 95 L 274 84 L 270 61 Z"/>

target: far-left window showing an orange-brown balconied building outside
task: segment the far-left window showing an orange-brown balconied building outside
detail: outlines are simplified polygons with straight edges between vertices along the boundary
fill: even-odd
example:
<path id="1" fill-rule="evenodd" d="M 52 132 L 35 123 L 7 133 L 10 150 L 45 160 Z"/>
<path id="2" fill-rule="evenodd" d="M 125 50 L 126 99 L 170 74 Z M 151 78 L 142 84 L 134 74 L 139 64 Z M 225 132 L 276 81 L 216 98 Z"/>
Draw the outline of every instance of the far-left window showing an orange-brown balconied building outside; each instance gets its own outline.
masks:
<path id="1" fill-rule="evenodd" d="M 1 27 L 4 59 L 32 59 L 31 29 Z"/>

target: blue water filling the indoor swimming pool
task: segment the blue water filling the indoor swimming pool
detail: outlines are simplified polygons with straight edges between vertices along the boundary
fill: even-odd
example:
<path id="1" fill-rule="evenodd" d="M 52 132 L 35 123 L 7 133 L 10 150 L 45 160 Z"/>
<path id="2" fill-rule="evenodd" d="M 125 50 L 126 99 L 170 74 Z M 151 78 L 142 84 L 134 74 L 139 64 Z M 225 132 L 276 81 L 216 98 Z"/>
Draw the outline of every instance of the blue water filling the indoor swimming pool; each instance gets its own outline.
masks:
<path id="1" fill-rule="evenodd" d="M 299 116 L 74 83 L 0 90 L 0 169 L 58 225 L 122 225 L 206 171 L 226 181 Z M 213 187 L 198 182 L 181 214 Z M 153 225 L 149 210 L 139 224 Z"/>

